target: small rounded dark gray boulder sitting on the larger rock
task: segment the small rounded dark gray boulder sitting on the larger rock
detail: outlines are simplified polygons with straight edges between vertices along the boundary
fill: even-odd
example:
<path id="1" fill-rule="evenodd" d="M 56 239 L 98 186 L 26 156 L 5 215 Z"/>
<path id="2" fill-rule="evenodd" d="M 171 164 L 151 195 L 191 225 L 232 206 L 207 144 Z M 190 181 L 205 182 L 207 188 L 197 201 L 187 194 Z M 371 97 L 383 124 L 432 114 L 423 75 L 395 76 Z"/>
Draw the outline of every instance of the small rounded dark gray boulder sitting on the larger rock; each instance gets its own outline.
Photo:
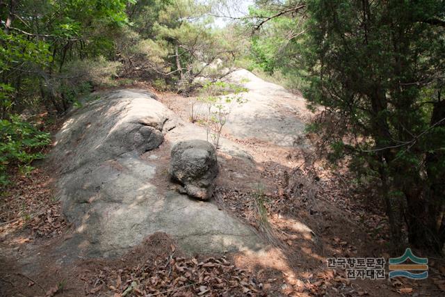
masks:
<path id="1" fill-rule="evenodd" d="M 215 148 L 201 140 L 183 141 L 172 148 L 170 175 L 193 198 L 209 200 L 218 175 Z"/>

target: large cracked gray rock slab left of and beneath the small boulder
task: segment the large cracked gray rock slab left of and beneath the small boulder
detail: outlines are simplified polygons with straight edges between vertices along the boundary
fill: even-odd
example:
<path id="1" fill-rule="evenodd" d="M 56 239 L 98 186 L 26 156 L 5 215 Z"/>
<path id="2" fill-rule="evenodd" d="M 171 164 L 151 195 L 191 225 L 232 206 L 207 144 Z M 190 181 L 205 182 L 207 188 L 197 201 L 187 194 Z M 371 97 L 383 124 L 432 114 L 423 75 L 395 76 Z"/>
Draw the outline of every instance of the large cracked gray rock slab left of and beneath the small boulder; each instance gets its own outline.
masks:
<path id="1" fill-rule="evenodd" d="M 140 158 L 163 142 L 171 146 L 202 131 L 178 120 L 145 90 L 99 97 L 72 111 L 50 154 L 59 175 L 57 195 L 74 230 L 59 252 L 117 257 L 154 232 L 170 234 L 190 253 L 264 247 L 250 227 L 215 204 L 159 188 L 156 161 Z"/>

